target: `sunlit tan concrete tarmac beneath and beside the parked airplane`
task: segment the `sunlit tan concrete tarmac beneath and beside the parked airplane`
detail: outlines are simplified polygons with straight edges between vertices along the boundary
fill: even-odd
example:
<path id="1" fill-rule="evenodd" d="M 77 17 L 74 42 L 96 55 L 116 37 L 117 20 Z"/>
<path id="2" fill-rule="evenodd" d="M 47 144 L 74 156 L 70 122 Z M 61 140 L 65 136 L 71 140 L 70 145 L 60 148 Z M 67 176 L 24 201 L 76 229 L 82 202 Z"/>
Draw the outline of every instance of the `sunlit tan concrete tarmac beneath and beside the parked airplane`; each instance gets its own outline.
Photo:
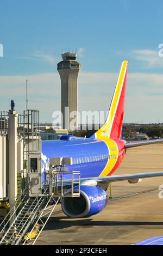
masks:
<path id="1" fill-rule="evenodd" d="M 161 171 L 162 155 L 163 143 L 128 149 L 114 174 Z M 113 182 L 112 199 L 101 213 L 89 218 L 68 218 L 59 204 L 35 245 L 132 245 L 163 236 L 160 185 L 162 177 L 143 179 L 138 184 Z M 110 187 L 107 192 L 109 197 Z"/>

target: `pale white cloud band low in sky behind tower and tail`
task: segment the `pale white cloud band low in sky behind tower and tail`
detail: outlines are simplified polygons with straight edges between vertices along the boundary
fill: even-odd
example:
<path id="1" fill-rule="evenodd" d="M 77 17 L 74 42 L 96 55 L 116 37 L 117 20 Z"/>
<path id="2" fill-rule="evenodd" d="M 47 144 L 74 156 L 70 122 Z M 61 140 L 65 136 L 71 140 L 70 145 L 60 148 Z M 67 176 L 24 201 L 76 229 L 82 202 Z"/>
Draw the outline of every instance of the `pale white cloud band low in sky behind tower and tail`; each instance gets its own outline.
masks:
<path id="1" fill-rule="evenodd" d="M 108 111 L 118 74 L 81 72 L 78 79 L 79 111 Z M 29 108 L 40 110 L 41 121 L 52 121 L 53 111 L 60 110 L 60 77 L 57 73 L 35 75 L 0 76 L 0 110 L 10 108 L 15 100 L 18 113 L 26 109 L 26 79 L 28 79 Z M 143 120 L 145 123 L 158 119 L 163 122 L 163 75 L 130 73 L 124 120 Z"/>

